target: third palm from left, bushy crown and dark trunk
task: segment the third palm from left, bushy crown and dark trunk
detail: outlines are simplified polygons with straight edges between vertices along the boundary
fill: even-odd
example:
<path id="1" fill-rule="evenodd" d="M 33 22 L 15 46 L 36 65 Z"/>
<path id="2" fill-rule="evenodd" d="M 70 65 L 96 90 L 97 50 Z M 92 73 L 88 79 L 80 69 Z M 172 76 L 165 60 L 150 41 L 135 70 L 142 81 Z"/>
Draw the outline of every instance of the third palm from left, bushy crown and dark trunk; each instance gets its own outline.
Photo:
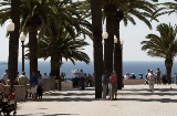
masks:
<path id="1" fill-rule="evenodd" d="M 85 7 L 86 6 L 85 2 L 76 1 L 71 3 L 70 0 L 66 0 L 66 1 L 55 2 L 55 4 L 58 4 L 58 8 L 56 8 L 58 13 L 46 18 L 50 23 L 48 24 L 48 28 L 41 29 L 42 32 L 40 32 L 40 34 L 41 33 L 45 34 L 50 39 L 51 51 L 52 51 L 51 52 L 51 75 L 52 76 L 58 74 L 56 38 L 62 36 L 63 31 L 67 31 L 72 36 L 72 39 L 75 39 L 75 33 L 77 33 L 79 35 L 91 36 L 91 23 L 86 21 L 90 14 L 85 14 L 88 11 L 81 10 L 81 4 L 82 7 Z"/>

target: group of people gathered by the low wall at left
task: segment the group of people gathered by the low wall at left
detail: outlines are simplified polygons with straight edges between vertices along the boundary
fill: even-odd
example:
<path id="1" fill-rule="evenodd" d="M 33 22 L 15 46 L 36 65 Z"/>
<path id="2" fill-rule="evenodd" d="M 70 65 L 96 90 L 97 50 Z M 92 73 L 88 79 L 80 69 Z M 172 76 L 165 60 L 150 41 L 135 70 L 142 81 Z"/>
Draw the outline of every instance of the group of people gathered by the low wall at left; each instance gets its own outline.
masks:
<path id="1" fill-rule="evenodd" d="M 2 74 L 1 84 L 3 85 L 10 85 L 10 80 L 8 77 L 8 70 Z M 44 73 L 43 77 L 49 77 L 46 73 Z M 19 75 L 19 72 L 17 73 L 17 77 L 14 78 L 13 85 L 24 85 L 25 86 L 25 98 L 28 97 L 28 91 L 30 89 L 30 93 L 32 95 L 32 99 L 42 99 L 42 93 L 43 93 L 43 81 L 42 75 L 40 74 L 40 71 L 38 73 L 32 72 L 31 81 L 25 76 L 25 72 L 23 71 L 22 74 Z M 28 84 L 30 85 L 30 88 L 28 89 Z"/>

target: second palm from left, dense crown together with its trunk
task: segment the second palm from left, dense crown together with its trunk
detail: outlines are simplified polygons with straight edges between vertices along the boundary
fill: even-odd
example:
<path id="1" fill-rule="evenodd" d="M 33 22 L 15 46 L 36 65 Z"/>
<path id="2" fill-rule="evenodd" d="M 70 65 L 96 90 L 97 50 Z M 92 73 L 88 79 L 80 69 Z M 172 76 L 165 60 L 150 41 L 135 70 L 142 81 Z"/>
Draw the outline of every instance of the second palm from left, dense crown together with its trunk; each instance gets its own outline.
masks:
<path id="1" fill-rule="evenodd" d="M 56 13 L 56 6 L 53 1 L 48 0 L 27 0 L 22 7 L 22 30 L 29 32 L 29 49 L 30 49 L 30 75 L 32 72 L 38 72 L 38 29 L 48 29 L 52 32 L 49 18 L 53 18 Z M 55 21 L 53 19 L 53 21 Z"/>

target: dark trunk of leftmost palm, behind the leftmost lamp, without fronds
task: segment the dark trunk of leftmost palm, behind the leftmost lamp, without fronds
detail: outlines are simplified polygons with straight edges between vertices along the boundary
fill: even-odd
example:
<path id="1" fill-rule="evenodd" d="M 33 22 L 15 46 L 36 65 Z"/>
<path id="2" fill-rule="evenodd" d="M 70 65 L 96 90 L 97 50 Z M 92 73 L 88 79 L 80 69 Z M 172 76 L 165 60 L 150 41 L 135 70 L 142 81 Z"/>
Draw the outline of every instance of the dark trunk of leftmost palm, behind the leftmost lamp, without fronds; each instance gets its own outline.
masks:
<path id="1" fill-rule="evenodd" d="M 14 31 L 10 33 L 9 43 L 9 70 L 11 78 L 11 87 L 17 77 L 18 55 L 19 55 L 19 30 L 20 30 L 20 0 L 11 0 L 11 19 L 14 23 Z"/>

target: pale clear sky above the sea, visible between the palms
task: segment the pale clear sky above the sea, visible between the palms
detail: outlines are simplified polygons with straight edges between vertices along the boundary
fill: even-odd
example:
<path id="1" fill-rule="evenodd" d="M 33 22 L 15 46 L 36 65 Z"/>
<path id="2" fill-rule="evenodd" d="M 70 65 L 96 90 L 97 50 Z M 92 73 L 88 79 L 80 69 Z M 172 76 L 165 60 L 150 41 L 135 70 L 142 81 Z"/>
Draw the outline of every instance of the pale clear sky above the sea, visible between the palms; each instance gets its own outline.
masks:
<path id="1" fill-rule="evenodd" d="M 174 1 L 174 0 L 168 0 Z M 170 23 L 171 25 L 177 24 L 177 13 L 170 15 L 162 15 L 158 18 L 159 22 L 153 21 L 153 30 L 149 30 L 148 27 L 136 19 L 136 25 L 128 23 L 127 27 L 121 22 L 121 39 L 124 40 L 123 44 L 123 61 L 164 61 L 164 59 L 148 56 L 145 51 L 142 51 L 140 42 L 145 40 L 145 36 L 149 33 L 158 34 L 156 27 L 159 23 Z M 7 29 L 6 24 L 0 27 L 0 62 L 8 61 L 9 54 L 9 39 L 6 36 Z M 104 27 L 103 27 L 104 28 Z M 105 28 L 104 28 L 105 29 Z M 29 39 L 25 39 L 28 43 Z M 86 39 L 90 43 L 88 46 L 84 48 L 84 52 L 88 54 L 91 61 L 93 61 L 93 42 L 90 39 Z M 24 50 L 25 51 L 25 50 Z M 19 60 L 22 57 L 21 42 L 19 40 Z M 177 57 L 175 59 L 175 61 Z M 43 60 L 42 60 L 43 61 Z"/>

